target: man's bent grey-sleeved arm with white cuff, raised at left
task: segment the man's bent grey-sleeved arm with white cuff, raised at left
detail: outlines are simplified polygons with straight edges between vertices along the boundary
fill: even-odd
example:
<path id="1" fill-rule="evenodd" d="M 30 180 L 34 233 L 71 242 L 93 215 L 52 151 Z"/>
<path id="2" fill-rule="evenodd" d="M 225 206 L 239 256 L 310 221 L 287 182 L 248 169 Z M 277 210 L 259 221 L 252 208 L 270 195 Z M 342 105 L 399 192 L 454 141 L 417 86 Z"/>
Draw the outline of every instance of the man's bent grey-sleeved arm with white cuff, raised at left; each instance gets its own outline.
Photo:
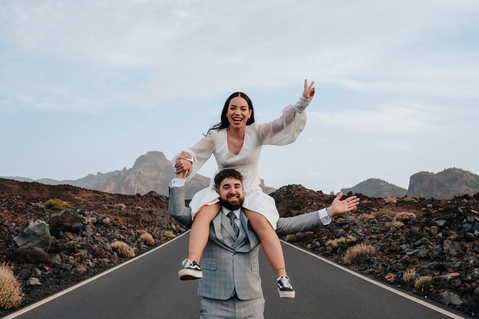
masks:
<path id="1" fill-rule="evenodd" d="M 168 212 L 180 223 L 191 228 L 193 219 L 191 218 L 191 209 L 185 206 L 185 179 L 173 178 L 170 183 L 170 200 L 168 202 Z"/>

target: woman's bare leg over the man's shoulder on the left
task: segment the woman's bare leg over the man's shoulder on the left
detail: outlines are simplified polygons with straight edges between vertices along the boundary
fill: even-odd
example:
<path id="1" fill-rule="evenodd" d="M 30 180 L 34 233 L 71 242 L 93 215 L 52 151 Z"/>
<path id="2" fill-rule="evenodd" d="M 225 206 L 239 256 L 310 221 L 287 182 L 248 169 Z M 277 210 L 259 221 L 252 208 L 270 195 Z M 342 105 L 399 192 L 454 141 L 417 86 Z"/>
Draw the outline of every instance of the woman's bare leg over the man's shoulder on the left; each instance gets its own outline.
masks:
<path id="1" fill-rule="evenodd" d="M 190 232 L 190 254 L 188 258 L 196 261 L 198 264 L 200 263 L 201 255 L 208 242 L 210 222 L 215 218 L 220 209 L 220 203 L 204 205 L 193 219 Z"/>

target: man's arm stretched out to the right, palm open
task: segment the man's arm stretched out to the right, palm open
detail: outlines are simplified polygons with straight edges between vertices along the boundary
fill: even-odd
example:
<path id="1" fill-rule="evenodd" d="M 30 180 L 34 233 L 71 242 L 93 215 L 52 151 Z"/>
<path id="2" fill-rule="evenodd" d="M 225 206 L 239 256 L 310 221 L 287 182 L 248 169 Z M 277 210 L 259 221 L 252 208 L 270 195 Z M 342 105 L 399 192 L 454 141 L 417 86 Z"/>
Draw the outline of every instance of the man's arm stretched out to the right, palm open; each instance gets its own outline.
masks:
<path id="1" fill-rule="evenodd" d="M 343 193 L 339 193 L 328 208 L 294 217 L 279 218 L 276 223 L 276 233 L 279 236 L 284 236 L 310 230 L 319 225 L 327 225 L 331 222 L 331 217 L 356 209 L 359 198 L 351 196 L 340 200 L 342 196 Z"/>

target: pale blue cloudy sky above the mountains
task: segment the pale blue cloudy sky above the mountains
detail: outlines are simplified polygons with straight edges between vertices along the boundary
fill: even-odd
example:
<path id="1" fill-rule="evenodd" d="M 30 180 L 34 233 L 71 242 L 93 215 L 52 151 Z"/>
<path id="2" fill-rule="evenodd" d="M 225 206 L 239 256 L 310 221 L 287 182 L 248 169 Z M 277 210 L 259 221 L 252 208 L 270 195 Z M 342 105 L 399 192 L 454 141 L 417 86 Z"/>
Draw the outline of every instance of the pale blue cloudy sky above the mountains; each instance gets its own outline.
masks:
<path id="1" fill-rule="evenodd" d="M 168 158 L 243 91 L 256 122 L 316 82 L 266 184 L 479 173 L 479 2 L 0 0 L 0 175 L 77 179 Z M 212 158 L 200 173 L 211 176 Z"/>

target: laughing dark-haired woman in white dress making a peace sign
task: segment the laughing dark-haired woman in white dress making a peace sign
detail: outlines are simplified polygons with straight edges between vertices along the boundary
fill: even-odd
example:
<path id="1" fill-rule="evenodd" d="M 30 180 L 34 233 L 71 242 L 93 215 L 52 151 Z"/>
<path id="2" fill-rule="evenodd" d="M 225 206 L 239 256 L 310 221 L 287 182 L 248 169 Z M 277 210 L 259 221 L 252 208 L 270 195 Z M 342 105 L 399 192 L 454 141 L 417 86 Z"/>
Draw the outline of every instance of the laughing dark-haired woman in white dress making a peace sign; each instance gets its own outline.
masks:
<path id="1" fill-rule="evenodd" d="M 251 100 L 241 92 L 233 93 L 225 102 L 221 122 L 214 125 L 195 146 L 175 156 L 172 160 L 177 174 L 186 173 L 189 181 L 212 154 L 218 171 L 234 168 L 243 175 L 244 202 L 242 209 L 251 227 L 258 234 L 266 258 L 278 277 L 280 297 L 294 298 L 294 290 L 284 266 L 281 244 L 275 233 L 279 218 L 274 199 L 259 187 L 257 163 L 262 145 L 287 145 L 296 140 L 306 124 L 304 110 L 314 96 L 314 82 L 304 80 L 304 91 L 295 105 L 282 111 L 279 119 L 270 123 L 254 123 Z M 216 173 L 217 173 L 216 172 Z M 215 174 L 216 174 L 215 173 Z M 198 265 L 208 241 L 209 225 L 221 207 L 214 177 L 210 187 L 195 194 L 190 202 L 193 225 L 190 233 L 189 258 L 183 262 L 180 279 L 201 278 Z"/>

